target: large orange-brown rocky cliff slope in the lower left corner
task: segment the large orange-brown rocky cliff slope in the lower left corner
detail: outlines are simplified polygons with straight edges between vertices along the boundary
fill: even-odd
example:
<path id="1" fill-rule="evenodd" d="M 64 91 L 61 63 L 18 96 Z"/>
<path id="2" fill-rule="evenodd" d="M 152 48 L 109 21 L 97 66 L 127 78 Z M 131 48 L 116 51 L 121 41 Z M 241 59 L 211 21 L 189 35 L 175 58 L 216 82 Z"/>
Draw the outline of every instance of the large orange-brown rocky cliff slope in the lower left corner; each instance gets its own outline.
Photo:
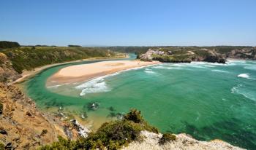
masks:
<path id="1" fill-rule="evenodd" d="M 39 112 L 17 87 L 0 83 L 0 103 L 0 144 L 6 149 L 36 149 L 66 137 L 68 125 Z"/>

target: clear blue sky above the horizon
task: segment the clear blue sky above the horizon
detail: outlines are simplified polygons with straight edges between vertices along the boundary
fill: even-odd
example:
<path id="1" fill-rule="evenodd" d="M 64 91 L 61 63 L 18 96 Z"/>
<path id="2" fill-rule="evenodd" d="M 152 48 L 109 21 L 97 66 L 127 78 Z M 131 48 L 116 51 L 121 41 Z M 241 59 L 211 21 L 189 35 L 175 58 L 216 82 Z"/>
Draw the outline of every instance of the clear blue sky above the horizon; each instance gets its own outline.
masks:
<path id="1" fill-rule="evenodd" d="M 0 0 L 0 40 L 256 46 L 256 0 Z"/>

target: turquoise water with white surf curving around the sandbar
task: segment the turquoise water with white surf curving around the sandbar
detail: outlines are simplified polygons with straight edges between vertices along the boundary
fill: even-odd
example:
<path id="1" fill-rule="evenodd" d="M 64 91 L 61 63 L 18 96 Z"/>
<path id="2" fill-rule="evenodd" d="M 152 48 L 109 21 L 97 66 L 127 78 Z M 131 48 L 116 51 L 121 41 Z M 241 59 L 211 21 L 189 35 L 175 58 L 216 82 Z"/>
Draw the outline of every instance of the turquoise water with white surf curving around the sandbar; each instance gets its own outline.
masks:
<path id="1" fill-rule="evenodd" d="M 163 63 L 89 82 L 45 86 L 48 76 L 74 64 L 48 68 L 25 83 L 39 108 L 54 112 L 61 107 L 68 117 L 87 114 L 85 120 L 93 126 L 113 119 L 111 112 L 138 108 L 162 132 L 188 133 L 203 141 L 219 138 L 256 149 L 255 61 Z M 90 111 L 89 102 L 99 103 L 99 109 Z"/>

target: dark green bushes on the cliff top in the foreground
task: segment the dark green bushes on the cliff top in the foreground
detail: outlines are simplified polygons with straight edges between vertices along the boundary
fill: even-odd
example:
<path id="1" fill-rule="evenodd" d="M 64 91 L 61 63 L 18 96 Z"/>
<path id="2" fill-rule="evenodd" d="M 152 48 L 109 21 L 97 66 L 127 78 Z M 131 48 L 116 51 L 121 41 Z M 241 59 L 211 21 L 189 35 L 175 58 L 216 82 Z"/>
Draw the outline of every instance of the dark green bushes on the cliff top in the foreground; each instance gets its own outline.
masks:
<path id="1" fill-rule="evenodd" d="M 87 138 L 70 141 L 59 137 L 58 142 L 39 149 L 120 149 L 121 146 L 127 146 L 132 141 L 140 141 L 143 138 L 140 136 L 142 130 L 158 133 L 157 128 L 151 127 L 143 119 L 140 111 L 132 109 L 124 119 L 103 124 Z"/>

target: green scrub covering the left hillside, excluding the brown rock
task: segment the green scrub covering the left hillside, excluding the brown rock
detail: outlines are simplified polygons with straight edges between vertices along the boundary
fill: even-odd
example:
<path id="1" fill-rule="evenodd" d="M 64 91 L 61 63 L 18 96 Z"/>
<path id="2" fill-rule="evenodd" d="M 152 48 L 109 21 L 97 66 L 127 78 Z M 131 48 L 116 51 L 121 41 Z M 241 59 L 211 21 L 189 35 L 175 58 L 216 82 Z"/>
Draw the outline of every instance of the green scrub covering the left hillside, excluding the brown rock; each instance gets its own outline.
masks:
<path id="1" fill-rule="evenodd" d="M 12 67 L 19 74 L 52 63 L 63 63 L 86 58 L 116 56 L 116 52 L 90 47 L 18 47 L 1 50 L 12 61 Z"/>

